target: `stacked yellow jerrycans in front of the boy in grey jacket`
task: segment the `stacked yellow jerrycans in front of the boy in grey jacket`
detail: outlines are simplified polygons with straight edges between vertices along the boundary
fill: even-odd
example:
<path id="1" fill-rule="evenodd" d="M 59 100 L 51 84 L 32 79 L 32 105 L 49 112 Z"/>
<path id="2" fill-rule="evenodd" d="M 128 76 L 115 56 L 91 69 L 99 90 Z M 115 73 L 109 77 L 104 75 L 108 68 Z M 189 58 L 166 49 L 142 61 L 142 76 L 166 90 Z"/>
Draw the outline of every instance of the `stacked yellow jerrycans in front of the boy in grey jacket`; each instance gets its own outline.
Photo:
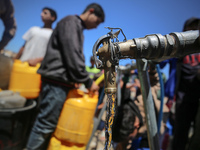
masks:
<path id="1" fill-rule="evenodd" d="M 104 79 L 96 80 L 99 84 Z M 98 95 L 80 89 L 69 91 L 48 150 L 85 150 L 93 129 Z"/>

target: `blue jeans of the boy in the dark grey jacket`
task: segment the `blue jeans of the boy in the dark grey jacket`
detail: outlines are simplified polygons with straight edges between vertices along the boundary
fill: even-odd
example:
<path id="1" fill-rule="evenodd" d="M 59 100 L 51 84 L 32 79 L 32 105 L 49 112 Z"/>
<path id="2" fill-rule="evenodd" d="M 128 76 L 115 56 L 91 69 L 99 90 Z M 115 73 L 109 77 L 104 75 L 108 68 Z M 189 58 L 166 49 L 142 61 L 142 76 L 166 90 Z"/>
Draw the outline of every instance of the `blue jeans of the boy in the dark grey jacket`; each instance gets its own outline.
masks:
<path id="1" fill-rule="evenodd" d="M 45 150 L 54 132 L 70 88 L 42 83 L 40 111 L 30 133 L 27 150 Z"/>

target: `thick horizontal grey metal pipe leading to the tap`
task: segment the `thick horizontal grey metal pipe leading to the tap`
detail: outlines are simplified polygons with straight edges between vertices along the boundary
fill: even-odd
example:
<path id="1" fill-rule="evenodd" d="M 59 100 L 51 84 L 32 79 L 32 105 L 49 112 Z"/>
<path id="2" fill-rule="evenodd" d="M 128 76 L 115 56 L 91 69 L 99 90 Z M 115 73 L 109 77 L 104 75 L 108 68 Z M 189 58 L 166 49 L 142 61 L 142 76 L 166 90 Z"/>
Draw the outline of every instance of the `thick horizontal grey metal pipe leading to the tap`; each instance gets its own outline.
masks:
<path id="1" fill-rule="evenodd" d="M 125 42 L 114 43 L 118 59 L 142 59 L 162 61 L 173 57 L 200 52 L 199 30 L 173 32 L 166 35 L 151 34 Z M 99 48 L 97 56 L 111 56 L 107 45 Z"/>

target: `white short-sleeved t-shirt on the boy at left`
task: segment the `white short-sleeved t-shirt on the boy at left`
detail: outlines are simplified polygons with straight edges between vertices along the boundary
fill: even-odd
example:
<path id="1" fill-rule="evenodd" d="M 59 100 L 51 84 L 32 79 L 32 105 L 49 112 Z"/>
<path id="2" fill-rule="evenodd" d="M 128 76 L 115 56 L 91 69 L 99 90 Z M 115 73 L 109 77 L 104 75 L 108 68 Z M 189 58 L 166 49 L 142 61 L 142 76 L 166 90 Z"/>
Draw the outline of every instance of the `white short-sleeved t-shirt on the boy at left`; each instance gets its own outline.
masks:
<path id="1" fill-rule="evenodd" d="M 20 60 L 27 61 L 28 59 L 44 57 L 52 32 L 52 29 L 47 28 L 30 28 L 22 37 L 26 44 Z"/>

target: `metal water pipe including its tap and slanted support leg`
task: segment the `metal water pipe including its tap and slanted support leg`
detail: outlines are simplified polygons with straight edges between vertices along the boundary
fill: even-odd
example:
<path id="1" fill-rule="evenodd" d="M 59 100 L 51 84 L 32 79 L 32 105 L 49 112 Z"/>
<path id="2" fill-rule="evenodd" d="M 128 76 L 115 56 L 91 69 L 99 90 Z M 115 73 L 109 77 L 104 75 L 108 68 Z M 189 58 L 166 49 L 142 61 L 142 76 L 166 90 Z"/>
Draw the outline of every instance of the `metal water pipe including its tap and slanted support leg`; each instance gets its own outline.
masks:
<path id="1" fill-rule="evenodd" d="M 111 29 L 111 32 L 100 37 L 93 47 L 96 67 L 104 69 L 105 93 L 116 93 L 115 66 L 118 65 L 119 60 L 126 58 L 137 59 L 140 82 L 142 83 L 145 115 L 147 116 L 149 145 L 151 150 L 159 150 L 150 83 L 145 63 L 141 59 L 145 58 L 154 61 L 162 61 L 200 52 L 199 30 L 173 32 L 164 36 L 161 34 L 151 34 L 143 38 L 134 38 L 132 40 L 126 40 L 124 36 L 125 40 L 119 42 L 117 36 L 122 30 L 119 29 L 117 32 L 113 33 L 112 30 L 116 28 L 109 29 Z M 103 44 L 102 47 L 99 47 L 101 44 Z"/>

